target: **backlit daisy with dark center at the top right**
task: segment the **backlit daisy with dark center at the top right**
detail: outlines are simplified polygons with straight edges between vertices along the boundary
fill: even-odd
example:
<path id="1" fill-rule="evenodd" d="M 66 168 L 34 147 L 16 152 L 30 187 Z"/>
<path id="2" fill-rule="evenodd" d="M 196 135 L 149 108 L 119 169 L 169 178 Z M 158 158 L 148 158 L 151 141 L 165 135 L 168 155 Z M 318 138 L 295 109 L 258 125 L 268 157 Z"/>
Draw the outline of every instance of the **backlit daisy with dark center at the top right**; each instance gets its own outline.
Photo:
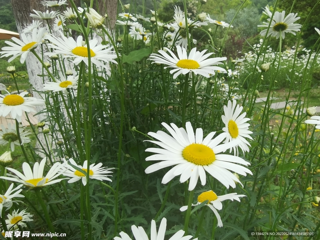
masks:
<path id="1" fill-rule="evenodd" d="M 260 32 L 261 36 L 265 36 L 269 27 L 269 22 L 271 20 L 271 16 L 270 15 L 270 11 L 269 11 L 269 7 L 266 6 L 265 7 L 265 12 L 263 12 L 264 14 L 266 14 L 268 17 L 267 21 L 268 22 L 263 22 L 265 25 L 258 25 L 258 27 L 266 27 L 267 29 L 264 29 Z M 285 11 L 282 12 L 275 12 L 272 20 L 271 20 L 271 25 L 270 25 L 270 29 L 268 32 L 268 36 L 276 36 L 276 39 L 279 38 L 280 36 L 280 32 L 281 32 L 281 37 L 284 39 L 284 33 L 292 33 L 293 35 L 296 35 L 295 32 L 293 31 L 300 31 L 301 25 L 300 24 L 296 24 L 294 23 L 295 21 L 299 20 L 300 17 L 297 17 L 297 14 L 294 13 L 289 13 L 288 16 L 286 16 L 284 18 L 285 15 Z"/>

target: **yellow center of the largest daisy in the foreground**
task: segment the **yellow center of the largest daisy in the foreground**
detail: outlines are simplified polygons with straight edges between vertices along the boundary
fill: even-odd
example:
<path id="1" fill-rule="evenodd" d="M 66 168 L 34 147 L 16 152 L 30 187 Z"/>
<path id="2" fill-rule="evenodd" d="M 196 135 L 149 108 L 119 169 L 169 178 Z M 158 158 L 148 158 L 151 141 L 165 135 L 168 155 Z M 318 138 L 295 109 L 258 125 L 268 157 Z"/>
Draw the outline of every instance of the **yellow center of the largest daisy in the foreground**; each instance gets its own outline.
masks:
<path id="1" fill-rule="evenodd" d="M 211 148 L 203 144 L 192 143 L 185 147 L 182 156 L 190 163 L 196 165 L 209 165 L 216 160 L 216 156 Z"/>

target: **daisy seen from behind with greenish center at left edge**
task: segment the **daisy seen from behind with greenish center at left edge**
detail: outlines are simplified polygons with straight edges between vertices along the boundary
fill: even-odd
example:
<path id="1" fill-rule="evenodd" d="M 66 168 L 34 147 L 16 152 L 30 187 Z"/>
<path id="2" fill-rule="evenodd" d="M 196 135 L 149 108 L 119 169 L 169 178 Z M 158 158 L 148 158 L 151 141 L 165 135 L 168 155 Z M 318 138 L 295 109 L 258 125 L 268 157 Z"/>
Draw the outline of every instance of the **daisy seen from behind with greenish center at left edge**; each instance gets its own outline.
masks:
<path id="1" fill-rule="evenodd" d="M 8 126 L 0 125 L 0 145 L 7 145 L 10 141 L 11 151 L 14 152 L 14 145 L 20 145 L 19 138 L 17 134 L 16 126 L 12 126 L 11 123 L 8 123 Z M 25 144 L 31 141 L 29 137 L 27 137 L 31 132 L 28 132 L 25 128 L 20 127 L 20 138 L 21 144 Z"/>

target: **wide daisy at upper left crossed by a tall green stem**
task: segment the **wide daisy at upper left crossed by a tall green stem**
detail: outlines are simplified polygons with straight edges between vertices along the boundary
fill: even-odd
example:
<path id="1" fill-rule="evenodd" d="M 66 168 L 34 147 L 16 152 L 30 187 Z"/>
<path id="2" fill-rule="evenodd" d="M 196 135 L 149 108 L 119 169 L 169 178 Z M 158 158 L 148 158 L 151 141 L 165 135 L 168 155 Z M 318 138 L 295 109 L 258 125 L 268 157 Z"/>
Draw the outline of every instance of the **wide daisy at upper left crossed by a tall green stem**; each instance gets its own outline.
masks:
<path id="1" fill-rule="evenodd" d="M 87 44 L 83 44 L 83 37 L 78 36 L 77 41 L 72 37 L 67 38 L 60 32 L 61 38 L 57 38 L 53 35 L 49 36 L 48 39 L 52 42 L 48 44 L 49 47 L 54 48 L 54 52 L 46 52 L 45 55 L 61 54 L 64 58 L 75 58 L 73 63 L 78 65 L 81 61 L 88 66 L 88 48 Z M 113 47 L 109 45 L 98 44 L 98 39 L 92 39 L 89 41 L 90 44 L 90 55 L 92 64 L 98 67 L 106 68 L 106 64 L 103 62 L 117 63 L 115 60 L 117 55 L 112 51 Z"/>

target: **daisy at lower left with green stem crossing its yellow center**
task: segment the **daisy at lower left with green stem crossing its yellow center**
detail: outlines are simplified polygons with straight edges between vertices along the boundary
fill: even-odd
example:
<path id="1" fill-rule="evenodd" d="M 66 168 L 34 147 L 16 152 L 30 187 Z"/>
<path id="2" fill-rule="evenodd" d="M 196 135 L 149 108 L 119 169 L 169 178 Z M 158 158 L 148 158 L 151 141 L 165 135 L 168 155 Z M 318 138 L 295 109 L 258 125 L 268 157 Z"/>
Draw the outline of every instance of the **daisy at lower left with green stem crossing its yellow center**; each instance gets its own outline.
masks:
<path id="1" fill-rule="evenodd" d="M 68 180 L 68 183 L 71 182 L 76 182 L 78 180 L 82 180 L 82 184 L 85 186 L 87 184 L 87 176 L 80 172 L 79 170 L 76 170 L 72 165 L 77 166 L 78 168 L 82 169 L 84 172 L 87 172 L 87 165 L 88 162 L 87 160 L 84 161 L 83 166 L 76 164 L 76 162 L 70 158 L 69 159 L 69 163 L 72 164 L 68 164 L 68 162 L 66 161 L 66 159 L 63 158 L 63 161 L 66 163 L 66 165 L 64 166 L 64 172 L 63 175 L 70 177 L 71 179 Z M 98 163 L 98 164 L 91 164 L 90 165 L 90 169 L 89 169 L 89 177 L 90 179 L 97 179 L 97 180 L 107 180 L 112 182 L 112 180 L 110 178 L 108 178 L 107 176 L 112 176 L 112 175 L 106 175 L 108 173 L 112 173 L 109 170 L 112 170 L 114 168 L 107 168 L 107 167 L 101 167 L 102 163 Z"/>

